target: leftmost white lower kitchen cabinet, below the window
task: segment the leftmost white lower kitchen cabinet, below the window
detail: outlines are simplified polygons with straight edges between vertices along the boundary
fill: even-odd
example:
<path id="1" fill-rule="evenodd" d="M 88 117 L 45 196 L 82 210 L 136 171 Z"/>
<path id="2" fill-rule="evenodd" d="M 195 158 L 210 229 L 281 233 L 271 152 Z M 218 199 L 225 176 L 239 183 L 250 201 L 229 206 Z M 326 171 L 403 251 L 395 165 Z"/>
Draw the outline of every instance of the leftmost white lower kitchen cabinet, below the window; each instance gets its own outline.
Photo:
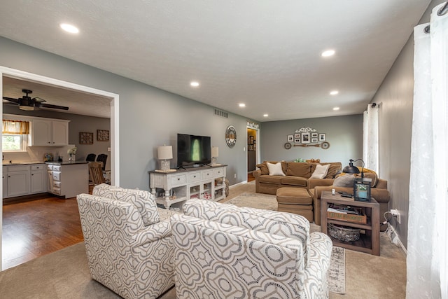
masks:
<path id="1" fill-rule="evenodd" d="M 29 165 L 14 165 L 6 167 L 8 192 L 7 197 L 29 194 Z"/>

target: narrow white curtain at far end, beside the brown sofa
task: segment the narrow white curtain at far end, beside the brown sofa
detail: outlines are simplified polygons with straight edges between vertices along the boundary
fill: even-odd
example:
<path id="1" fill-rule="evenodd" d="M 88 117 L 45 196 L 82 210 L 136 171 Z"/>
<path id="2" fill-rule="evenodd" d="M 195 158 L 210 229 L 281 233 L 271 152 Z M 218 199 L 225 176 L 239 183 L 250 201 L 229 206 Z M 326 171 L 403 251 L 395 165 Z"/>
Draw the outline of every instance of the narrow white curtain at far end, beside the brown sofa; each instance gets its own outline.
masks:
<path id="1" fill-rule="evenodd" d="M 368 104 L 363 118 L 363 160 L 365 168 L 379 174 L 378 118 L 379 105 Z"/>

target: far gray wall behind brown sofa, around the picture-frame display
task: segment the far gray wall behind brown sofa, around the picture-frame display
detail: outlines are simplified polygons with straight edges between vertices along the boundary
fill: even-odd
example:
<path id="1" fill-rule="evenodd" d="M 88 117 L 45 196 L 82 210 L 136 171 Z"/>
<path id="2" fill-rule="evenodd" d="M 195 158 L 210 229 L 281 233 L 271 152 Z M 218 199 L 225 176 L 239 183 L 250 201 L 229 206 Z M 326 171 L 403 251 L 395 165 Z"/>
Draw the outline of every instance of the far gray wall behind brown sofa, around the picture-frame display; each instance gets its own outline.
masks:
<path id="1" fill-rule="evenodd" d="M 301 127 L 311 127 L 326 134 L 330 148 L 293 146 L 284 148 L 288 134 L 294 134 Z M 261 161 L 295 160 L 297 158 L 321 159 L 322 162 L 342 162 L 363 158 L 363 116 L 335 116 L 328 118 L 307 118 L 261 123 Z"/>

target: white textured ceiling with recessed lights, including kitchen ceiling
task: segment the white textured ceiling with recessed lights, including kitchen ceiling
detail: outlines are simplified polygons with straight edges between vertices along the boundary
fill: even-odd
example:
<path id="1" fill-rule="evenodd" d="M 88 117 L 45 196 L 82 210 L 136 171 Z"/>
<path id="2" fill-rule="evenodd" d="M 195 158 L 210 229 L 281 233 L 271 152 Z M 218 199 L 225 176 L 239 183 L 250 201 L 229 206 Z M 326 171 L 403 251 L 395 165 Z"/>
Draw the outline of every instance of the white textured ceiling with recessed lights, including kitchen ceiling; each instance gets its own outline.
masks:
<path id="1" fill-rule="evenodd" d="M 429 3 L 2 0 L 0 36 L 253 120 L 315 118 L 365 110 Z M 62 32 L 61 22 L 80 33 Z M 321 57 L 328 49 L 336 54 Z M 88 95 L 51 87 L 6 81 L 3 96 L 22 88 L 68 101 L 70 113 L 109 114 Z"/>

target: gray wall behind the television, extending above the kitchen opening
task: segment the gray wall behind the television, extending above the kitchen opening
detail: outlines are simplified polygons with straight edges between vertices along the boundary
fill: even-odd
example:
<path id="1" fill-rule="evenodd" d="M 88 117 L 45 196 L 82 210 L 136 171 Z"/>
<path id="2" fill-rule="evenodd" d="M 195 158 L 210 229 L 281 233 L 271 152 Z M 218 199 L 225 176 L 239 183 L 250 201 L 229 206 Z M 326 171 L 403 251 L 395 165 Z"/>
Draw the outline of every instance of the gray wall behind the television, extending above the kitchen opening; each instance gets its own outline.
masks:
<path id="1" fill-rule="evenodd" d="M 228 164 L 230 184 L 247 179 L 246 118 L 232 113 L 229 118 L 214 116 L 211 106 L 9 39 L 0 37 L 0 49 L 3 67 L 120 95 L 121 186 L 149 190 L 148 171 L 158 168 L 157 147 L 167 144 L 176 148 L 178 132 L 210 136 L 212 145 L 219 147 L 218 163 Z M 237 130 L 234 148 L 225 144 L 228 125 Z M 175 162 L 172 160 L 172 166 Z"/>

